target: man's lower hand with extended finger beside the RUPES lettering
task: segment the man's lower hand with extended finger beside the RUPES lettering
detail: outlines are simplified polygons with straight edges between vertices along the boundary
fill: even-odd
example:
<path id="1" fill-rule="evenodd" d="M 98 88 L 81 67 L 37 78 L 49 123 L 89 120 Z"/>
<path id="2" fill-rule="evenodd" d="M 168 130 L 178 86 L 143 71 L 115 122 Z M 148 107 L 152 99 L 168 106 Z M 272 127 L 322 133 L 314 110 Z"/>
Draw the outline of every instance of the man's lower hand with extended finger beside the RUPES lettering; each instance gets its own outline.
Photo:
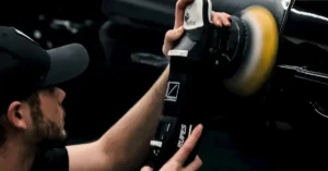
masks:
<path id="1" fill-rule="evenodd" d="M 195 148 L 200 135 L 202 133 L 202 125 L 198 125 L 190 136 L 187 138 L 183 147 L 160 169 L 160 171 L 196 171 L 198 170 L 202 162 L 197 156 L 195 160 L 187 167 L 183 167 L 188 156 Z M 143 167 L 141 171 L 152 171 L 150 167 Z"/>

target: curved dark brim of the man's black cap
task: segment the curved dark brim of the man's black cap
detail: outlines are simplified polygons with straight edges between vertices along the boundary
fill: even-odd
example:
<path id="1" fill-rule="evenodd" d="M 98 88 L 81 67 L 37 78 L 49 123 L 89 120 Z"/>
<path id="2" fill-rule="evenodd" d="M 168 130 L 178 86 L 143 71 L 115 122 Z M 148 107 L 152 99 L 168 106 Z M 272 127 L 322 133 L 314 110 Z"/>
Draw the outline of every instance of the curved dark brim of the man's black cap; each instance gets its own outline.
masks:
<path id="1" fill-rule="evenodd" d="M 47 50 L 50 56 L 50 69 L 43 87 L 70 81 L 84 72 L 89 65 L 86 49 L 80 44 L 70 44 Z"/>

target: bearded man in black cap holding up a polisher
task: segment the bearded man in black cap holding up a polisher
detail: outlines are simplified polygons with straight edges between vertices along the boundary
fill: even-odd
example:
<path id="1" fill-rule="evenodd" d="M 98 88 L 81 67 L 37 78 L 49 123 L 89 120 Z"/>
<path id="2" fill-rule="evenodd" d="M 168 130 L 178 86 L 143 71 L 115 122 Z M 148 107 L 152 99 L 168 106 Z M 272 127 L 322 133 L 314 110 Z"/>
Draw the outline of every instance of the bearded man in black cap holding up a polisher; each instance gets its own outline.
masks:
<path id="1" fill-rule="evenodd" d="M 192 0 L 178 0 L 175 27 L 168 30 L 164 54 L 184 29 L 183 13 Z M 216 26 L 230 25 L 229 15 L 213 13 Z M 43 50 L 30 37 L 11 27 L 0 27 L 0 168 L 1 171 L 134 170 L 145 159 L 150 141 L 162 114 L 169 66 L 150 90 L 98 141 L 49 148 L 66 138 L 65 91 L 57 84 L 81 74 L 89 57 L 81 45 Z M 201 134 L 197 126 L 162 171 L 197 170 L 197 157 L 183 163 Z M 145 170 L 150 168 L 144 168 Z"/>

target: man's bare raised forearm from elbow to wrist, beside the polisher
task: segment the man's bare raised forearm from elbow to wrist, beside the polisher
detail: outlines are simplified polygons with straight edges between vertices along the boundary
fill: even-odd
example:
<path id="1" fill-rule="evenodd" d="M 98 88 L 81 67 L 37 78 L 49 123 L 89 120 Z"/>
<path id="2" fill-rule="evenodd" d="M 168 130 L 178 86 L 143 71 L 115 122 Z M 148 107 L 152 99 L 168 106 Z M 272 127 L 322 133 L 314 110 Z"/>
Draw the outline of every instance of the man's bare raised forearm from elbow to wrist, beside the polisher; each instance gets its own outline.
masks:
<path id="1" fill-rule="evenodd" d="M 167 66 L 151 89 L 101 138 L 108 156 L 115 155 L 118 170 L 131 170 L 147 157 L 150 141 L 163 111 Z M 115 169 L 116 170 L 116 169 Z"/>

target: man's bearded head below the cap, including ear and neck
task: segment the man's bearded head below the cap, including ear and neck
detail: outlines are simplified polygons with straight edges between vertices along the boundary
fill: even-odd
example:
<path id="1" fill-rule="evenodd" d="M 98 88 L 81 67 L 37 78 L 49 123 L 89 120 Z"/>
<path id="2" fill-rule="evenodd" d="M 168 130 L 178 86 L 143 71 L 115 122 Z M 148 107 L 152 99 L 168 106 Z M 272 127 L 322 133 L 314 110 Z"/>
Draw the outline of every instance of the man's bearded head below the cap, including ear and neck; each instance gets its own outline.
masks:
<path id="1" fill-rule="evenodd" d="M 1 117 L 3 142 L 19 138 L 25 145 L 50 146 L 65 141 L 65 110 L 60 88 L 40 89 L 22 101 L 12 101 Z"/>

